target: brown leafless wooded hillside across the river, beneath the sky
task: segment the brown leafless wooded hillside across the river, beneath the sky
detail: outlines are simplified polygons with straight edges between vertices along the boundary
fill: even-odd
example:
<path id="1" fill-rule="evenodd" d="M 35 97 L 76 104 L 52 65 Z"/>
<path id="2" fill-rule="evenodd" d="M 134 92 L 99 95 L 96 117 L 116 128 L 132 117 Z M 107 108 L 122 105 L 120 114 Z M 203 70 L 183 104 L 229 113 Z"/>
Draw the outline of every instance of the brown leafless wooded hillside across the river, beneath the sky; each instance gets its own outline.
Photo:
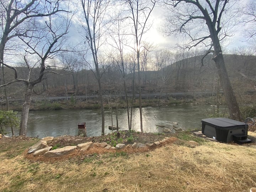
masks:
<path id="1" fill-rule="evenodd" d="M 183 92 L 183 91 L 214 91 L 218 86 L 218 75 L 212 55 L 201 62 L 202 55 L 182 59 L 171 65 L 161 65 L 158 71 L 142 71 L 142 92 Z M 256 56 L 224 55 L 226 69 L 236 94 L 244 94 L 255 90 Z M 152 62 L 154 63 L 154 62 Z M 129 73 L 127 63 L 126 83 L 128 92 L 132 92 L 132 80 L 137 83 L 137 73 Z M 45 79 L 34 87 L 34 96 L 65 96 L 97 94 L 98 85 L 91 70 L 65 71 L 58 68 L 47 69 L 55 71 L 47 73 Z M 135 69 L 136 70 L 136 69 Z M 28 69 L 17 67 L 18 78 L 26 78 Z M 132 71 L 132 70 L 131 70 Z M 14 78 L 10 69 L 5 70 L 6 81 Z M 38 69 L 32 71 L 38 73 Z M 103 94 L 123 93 L 123 78 L 116 65 L 109 66 L 102 75 Z M 11 97 L 23 97 L 25 85 L 22 82 L 9 85 Z M 2 91 L 2 90 L 1 90 Z M 2 95 L 3 91 L 1 92 Z"/>

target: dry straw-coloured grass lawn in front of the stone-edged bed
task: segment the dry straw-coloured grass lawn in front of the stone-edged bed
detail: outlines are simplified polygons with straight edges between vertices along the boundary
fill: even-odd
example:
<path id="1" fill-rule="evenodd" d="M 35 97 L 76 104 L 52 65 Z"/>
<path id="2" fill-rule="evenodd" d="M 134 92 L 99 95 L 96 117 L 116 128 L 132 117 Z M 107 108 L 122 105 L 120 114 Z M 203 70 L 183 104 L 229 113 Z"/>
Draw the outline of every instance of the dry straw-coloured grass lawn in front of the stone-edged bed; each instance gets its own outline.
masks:
<path id="1" fill-rule="evenodd" d="M 256 187 L 255 145 L 207 141 L 191 147 L 176 140 L 141 153 L 35 161 L 27 159 L 21 147 L 35 142 L 16 144 L 22 153 L 14 155 L 8 153 L 11 149 L 0 149 L 0 191 L 249 192 Z"/>

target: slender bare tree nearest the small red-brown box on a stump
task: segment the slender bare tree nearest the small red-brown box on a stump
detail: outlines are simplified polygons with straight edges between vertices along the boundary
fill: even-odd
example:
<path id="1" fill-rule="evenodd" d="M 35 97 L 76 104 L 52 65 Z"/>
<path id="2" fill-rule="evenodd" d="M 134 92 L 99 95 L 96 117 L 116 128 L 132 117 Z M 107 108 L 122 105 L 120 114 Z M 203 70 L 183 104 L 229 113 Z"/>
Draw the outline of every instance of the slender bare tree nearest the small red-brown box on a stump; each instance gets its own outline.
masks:
<path id="1" fill-rule="evenodd" d="M 101 105 L 101 134 L 105 133 L 105 117 L 104 117 L 104 106 L 102 96 L 102 85 L 100 72 L 100 61 L 99 61 L 99 48 L 103 45 L 103 35 L 106 32 L 104 28 L 107 24 L 107 11 L 110 8 L 110 1 L 104 0 L 81 0 L 81 5 L 84 13 L 85 23 L 82 22 L 82 27 L 86 32 L 85 43 L 89 44 L 91 50 L 94 66 L 95 66 L 95 77 L 98 81 L 99 88 L 99 99 Z M 89 62 L 87 62 L 90 64 Z"/>

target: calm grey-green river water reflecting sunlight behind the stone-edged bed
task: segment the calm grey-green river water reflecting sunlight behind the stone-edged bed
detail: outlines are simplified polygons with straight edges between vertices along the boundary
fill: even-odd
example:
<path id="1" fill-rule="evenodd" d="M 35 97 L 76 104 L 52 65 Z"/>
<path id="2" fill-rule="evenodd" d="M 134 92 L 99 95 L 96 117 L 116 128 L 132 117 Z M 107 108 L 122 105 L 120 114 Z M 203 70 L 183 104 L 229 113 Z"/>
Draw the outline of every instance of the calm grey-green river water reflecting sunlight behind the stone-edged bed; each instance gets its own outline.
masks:
<path id="1" fill-rule="evenodd" d="M 208 111 L 208 112 L 207 112 Z M 144 107 L 143 131 L 159 132 L 156 125 L 169 125 L 177 122 L 182 129 L 201 128 L 201 119 L 207 118 L 211 107 L 207 109 L 200 105 L 177 105 L 168 107 Z M 126 109 L 119 109 L 118 124 L 121 130 L 128 130 Z M 140 131 L 139 108 L 133 110 L 132 129 Z M 28 137 L 58 137 L 62 135 L 78 135 L 78 122 L 86 122 L 87 136 L 101 135 L 101 113 L 98 109 L 30 111 L 27 126 Z M 113 124 L 116 125 L 116 115 L 113 114 Z M 105 111 L 105 134 L 111 132 L 111 113 Z M 16 130 L 17 132 L 17 130 Z M 161 132 L 161 131 L 160 131 Z"/>

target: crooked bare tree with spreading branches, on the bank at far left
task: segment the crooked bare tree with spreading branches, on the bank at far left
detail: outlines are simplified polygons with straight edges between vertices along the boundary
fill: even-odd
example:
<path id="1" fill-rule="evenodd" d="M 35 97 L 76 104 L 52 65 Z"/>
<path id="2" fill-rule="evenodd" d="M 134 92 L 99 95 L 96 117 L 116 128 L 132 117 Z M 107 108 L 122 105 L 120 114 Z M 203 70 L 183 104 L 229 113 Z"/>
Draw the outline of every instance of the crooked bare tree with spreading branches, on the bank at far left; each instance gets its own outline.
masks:
<path id="1" fill-rule="evenodd" d="M 25 102 L 23 103 L 21 114 L 20 135 L 26 135 L 28 112 L 34 85 L 41 82 L 44 74 L 47 73 L 45 71 L 48 64 L 47 60 L 53 59 L 58 52 L 63 51 L 62 45 L 64 42 L 61 40 L 68 33 L 70 19 L 67 19 L 64 14 L 58 14 L 58 12 L 69 13 L 66 10 L 68 6 L 66 7 L 65 5 L 65 9 L 62 9 L 61 3 L 62 1 L 37 2 L 32 0 L 28 4 L 23 4 L 20 1 L 11 0 L 7 6 L 2 4 L 6 10 L 6 22 L 5 31 L 1 39 L 1 52 L 4 51 L 4 46 L 9 39 L 15 37 L 18 37 L 27 46 L 25 48 L 26 53 L 23 56 L 28 68 L 27 79 L 19 79 L 17 69 L 10 64 L 4 63 L 3 58 L 1 58 L 1 64 L 14 71 L 14 80 L 0 87 L 14 82 L 24 82 L 26 85 Z M 44 24 L 38 24 L 40 22 L 38 22 L 37 17 L 44 17 Z M 31 62 L 28 60 L 29 57 Z M 36 78 L 32 79 L 31 71 L 37 67 L 40 69 L 39 73 Z"/>

